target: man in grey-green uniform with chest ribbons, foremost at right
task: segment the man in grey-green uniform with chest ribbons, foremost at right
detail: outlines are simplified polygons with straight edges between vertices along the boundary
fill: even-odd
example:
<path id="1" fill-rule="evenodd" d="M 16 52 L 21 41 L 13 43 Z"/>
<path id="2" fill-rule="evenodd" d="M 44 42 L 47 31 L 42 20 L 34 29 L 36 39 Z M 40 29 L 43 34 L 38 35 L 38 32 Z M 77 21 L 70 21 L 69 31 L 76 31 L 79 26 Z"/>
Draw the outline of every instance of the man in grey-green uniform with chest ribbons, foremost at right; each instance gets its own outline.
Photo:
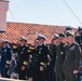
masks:
<path id="1" fill-rule="evenodd" d="M 74 36 L 72 32 L 67 32 L 66 57 L 64 63 L 65 79 L 66 81 L 78 81 L 77 73 L 79 72 L 80 63 L 80 46 L 74 42 Z"/>

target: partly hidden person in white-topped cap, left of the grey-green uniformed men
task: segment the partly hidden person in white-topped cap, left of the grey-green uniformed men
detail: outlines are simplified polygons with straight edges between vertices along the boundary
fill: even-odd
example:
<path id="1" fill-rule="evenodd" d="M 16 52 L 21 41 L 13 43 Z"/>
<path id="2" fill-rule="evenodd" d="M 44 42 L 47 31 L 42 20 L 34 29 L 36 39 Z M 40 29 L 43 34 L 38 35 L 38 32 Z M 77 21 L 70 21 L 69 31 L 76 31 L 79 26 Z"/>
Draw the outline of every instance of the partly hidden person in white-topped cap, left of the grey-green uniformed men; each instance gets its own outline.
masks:
<path id="1" fill-rule="evenodd" d="M 54 71 L 54 67 L 55 67 L 55 59 L 56 59 L 56 46 L 57 46 L 57 39 L 58 39 L 58 35 L 55 33 L 53 36 L 52 42 L 50 44 L 50 59 L 47 63 L 47 81 L 55 81 L 55 71 Z"/>

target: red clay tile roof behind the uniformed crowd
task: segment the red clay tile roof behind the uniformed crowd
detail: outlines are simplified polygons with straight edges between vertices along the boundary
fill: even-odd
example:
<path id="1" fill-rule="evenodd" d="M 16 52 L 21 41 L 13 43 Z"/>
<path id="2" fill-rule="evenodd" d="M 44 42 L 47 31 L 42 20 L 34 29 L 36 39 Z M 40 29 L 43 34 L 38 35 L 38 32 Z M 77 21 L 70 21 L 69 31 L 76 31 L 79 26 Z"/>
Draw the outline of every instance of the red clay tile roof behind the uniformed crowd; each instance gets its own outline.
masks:
<path id="1" fill-rule="evenodd" d="M 6 31 L 0 33 L 0 39 L 8 39 L 10 42 L 16 42 L 20 36 L 27 38 L 28 43 L 32 43 L 37 33 L 46 37 L 46 43 L 50 43 L 54 33 L 65 31 L 65 26 L 26 24 L 26 23 L 6 23 Z"/>

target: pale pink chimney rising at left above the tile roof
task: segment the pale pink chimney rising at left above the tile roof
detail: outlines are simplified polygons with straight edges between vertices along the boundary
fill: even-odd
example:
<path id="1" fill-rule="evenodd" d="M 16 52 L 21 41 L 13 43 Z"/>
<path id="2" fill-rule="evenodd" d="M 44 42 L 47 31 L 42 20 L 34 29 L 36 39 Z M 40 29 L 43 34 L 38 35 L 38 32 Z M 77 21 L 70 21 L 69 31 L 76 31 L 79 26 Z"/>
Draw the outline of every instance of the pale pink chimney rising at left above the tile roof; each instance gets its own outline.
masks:
<path id="1" fill-rule="evenodd" d="M 0 32 L 6 30 L 6 11 L 9 10 L 9 1 L 0 0 Z"/>

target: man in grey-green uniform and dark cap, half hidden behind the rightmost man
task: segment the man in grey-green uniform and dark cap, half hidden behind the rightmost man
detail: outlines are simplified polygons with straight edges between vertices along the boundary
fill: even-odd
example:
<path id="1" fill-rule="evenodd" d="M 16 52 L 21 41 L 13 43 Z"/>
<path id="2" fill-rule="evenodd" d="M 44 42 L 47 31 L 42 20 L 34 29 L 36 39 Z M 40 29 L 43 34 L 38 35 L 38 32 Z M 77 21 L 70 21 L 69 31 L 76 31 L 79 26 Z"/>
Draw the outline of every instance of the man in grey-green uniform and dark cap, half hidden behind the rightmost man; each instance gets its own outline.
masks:
<path id="1" fill-rule="evenodd" d="M 65 33 L 59 33 L 60 43 L 56 48 L 56 60 L 55 60 L 55 72 L 56 72 L 56 81 L 64 81 L 64 60 L 65 60 Z"/>

